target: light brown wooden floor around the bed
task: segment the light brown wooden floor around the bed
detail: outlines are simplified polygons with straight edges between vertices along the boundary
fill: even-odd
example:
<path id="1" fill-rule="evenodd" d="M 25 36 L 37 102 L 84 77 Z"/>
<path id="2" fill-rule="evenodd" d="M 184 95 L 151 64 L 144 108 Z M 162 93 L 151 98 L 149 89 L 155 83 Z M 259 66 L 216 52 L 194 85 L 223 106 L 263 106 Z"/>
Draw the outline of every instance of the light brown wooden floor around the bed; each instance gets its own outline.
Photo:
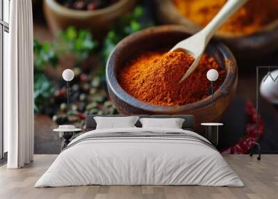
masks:
<path id="1" fill-rule="evenodd" d="M 19 170 L 0 168 L 0 198 L 278 198 L 278 154 L 261 161 L 248 155 L 224 157 L 245 187 L 211 186 L 71 186 L 33 188 L 56 155 L 35 155 L 33 164 Z"/>

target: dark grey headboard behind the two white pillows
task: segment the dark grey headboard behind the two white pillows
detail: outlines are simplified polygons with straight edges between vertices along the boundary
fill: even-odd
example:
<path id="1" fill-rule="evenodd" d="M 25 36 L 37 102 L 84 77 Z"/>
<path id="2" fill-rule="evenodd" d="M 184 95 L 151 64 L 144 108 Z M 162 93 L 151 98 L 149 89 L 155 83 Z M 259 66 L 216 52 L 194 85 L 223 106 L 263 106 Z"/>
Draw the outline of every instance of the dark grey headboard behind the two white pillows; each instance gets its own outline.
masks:
<path id="1" fill-rule="evenodd" d="M 85 125 L 86 125 L 86 132 L 95 130 L 97 127 L 97 123 L 95 122 L 94 117 L 99 115 L 88 115 L 85 118 Z M 104 115 L 101 117 L 124 117 L 127 115 Z M 183 118 L 184 122 L 182 125 L 182 129 L 193 131 L 194 132 L 194 125 L 195 120 L 193 115 L 174 115 L 174 116 L 168 116 L 168 115 L 155 115 L 155 116 L 149 116 L 149 115 L 132 115 L 132 116 L 139 116 L 140 118 Z M 138 120 L 136 122 L 136 127 L 142 127 L 141 122 Z"/>

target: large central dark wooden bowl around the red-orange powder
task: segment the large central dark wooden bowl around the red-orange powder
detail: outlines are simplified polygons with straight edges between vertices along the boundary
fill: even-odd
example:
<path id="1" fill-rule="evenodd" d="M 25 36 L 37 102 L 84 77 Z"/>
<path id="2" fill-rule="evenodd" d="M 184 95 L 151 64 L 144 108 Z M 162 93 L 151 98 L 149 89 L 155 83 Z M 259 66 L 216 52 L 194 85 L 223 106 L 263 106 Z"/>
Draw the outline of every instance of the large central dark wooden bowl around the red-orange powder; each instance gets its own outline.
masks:
<path id="1" fill-rule="evenodd" d="M 200 127 L 201 122 L 218 122 L 229 106 L 236 93 L 238 81 L 238 67 L 231 51 L 220 42 L 212 40 L 206 48 L 206 54 L 213 56 L 220 67 L 226 70 L 224 83 L 213 94 L 214 106 L 211 109 L 211 96 L 204 100 L 181 106 L 156 106 L 142 102 L 126 93 L 117 81 L 117 74 L 129 58 L 141 51 L 174 46 L 180 40 L 188 38 L 183 26 L 157 26 L 133 33 L 124 38 L 115 47 L 106 65 L 106 83 L 111 100 L 116 109 L 122 114 L 193 114 L 195 126 Z"/>

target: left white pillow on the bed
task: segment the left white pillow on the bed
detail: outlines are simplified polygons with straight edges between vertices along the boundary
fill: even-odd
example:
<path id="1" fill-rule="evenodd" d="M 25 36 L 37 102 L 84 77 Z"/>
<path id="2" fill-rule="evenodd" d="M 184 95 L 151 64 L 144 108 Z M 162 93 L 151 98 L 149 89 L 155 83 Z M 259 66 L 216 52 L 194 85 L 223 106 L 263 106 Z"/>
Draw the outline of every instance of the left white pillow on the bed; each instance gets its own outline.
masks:
<path id="1" fill-rule="evenodd" d="M 96 129 L 115 129 L 115 128 L 130 128 L 136 127 L 135 124 L 138 120 L 138 116 L 126 116 L 126 117 L 94 117 L 97 122 Z"/>

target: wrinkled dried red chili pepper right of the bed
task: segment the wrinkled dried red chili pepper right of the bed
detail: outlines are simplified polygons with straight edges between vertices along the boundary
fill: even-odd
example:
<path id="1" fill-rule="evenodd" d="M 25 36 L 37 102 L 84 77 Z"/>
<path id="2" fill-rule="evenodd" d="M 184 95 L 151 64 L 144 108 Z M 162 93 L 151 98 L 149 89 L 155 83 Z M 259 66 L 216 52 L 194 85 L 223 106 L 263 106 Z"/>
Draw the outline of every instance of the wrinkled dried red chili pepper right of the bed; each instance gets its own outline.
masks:
<path id="1" fill-rule="evenodd" d="M 256 108 L 251 101 L 246 103 L 247 124 L 246 133 L 234 145 L 220 150 L 222 154 L 246 154 L 254 146 L 254 142 L 259 141 L 263 134 L 264 124 L 260 115 L 257 116 Z M 256 134 L 256 117 L 258 118 L 258 134 Z"/>

